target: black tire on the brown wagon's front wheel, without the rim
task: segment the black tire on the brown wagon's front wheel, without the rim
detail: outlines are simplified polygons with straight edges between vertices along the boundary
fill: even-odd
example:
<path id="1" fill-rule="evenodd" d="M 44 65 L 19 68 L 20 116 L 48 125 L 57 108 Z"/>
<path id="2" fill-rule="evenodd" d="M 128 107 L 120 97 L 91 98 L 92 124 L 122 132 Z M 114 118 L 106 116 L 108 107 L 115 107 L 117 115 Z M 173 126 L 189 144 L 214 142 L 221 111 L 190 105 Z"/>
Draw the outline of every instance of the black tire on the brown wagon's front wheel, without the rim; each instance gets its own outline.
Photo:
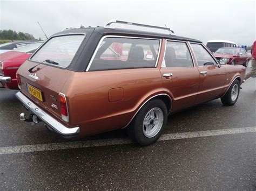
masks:
<path id="1" fill-rule="evenodd" d="M 237 86 L 238 88 L 238 93 L 237 93 L 237 97 L 235 99 L 232 100 L 232 90 L 233 90 L 233 87 L 234 86 Z M 240 83 L 239 83 L 239 80 L 235 80 L 230 88 L 227 90 L 226 94 L 221 97 L 221 102 L 224 104 L 224 105 L 234 105 L 235 102 L 237 102 L 238 100 L 238 97 L 239 97 L 239 93 L 240 93 Z"/>

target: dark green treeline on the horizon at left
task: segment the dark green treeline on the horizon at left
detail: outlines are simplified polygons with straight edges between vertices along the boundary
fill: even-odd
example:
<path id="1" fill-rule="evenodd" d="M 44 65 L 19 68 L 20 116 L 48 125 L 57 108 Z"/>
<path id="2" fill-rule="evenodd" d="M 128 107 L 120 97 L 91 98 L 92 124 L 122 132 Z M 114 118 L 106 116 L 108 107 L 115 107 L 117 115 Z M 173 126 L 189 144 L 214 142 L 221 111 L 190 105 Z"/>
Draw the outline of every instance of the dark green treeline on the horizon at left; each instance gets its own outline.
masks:
<path id="1" fill-rule="evenodd" d="M 41 40 L 35 39 L 32 34 L 24 32 L 16 32 L 12 30 L 0 30 L 0 39 L 9 39 L 9 40 Z"/>

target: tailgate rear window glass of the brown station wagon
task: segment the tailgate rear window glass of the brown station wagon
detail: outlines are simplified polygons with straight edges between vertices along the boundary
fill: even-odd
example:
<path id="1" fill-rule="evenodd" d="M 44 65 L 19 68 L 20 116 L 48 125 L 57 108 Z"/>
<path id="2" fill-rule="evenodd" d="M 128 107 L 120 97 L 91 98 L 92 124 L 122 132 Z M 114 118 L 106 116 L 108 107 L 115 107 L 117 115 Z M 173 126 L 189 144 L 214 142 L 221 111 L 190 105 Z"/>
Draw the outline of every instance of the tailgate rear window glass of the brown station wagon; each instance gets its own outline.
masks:
<path id="1" fill-rule="evenodd" d="M 83 39 L 84 35 L 53 37 L 32 56 L 31 60 L 51 60 L 57 62 L 59 67 L 68 67 Z"/>

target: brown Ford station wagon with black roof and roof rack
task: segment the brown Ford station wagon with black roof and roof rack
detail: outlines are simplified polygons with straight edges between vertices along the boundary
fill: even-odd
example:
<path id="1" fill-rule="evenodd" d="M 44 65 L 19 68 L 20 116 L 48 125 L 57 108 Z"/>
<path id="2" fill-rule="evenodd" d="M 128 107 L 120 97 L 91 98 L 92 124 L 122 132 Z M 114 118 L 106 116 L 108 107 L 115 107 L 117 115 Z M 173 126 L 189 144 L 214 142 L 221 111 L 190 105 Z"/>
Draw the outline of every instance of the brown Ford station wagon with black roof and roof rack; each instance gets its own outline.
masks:
<path id="1" fill-rule="evenodd" d="M 172 112 L 217 98 L 233 105 L 244 76 L 245 67 L 217 61 L 199 40 L 116 20 L 51 36 L 19 68 L 16 96 L 31 112 L 21 120 L 42 121 L 64 137 L 127 128 L 133 140 L 149 145 Z"/>

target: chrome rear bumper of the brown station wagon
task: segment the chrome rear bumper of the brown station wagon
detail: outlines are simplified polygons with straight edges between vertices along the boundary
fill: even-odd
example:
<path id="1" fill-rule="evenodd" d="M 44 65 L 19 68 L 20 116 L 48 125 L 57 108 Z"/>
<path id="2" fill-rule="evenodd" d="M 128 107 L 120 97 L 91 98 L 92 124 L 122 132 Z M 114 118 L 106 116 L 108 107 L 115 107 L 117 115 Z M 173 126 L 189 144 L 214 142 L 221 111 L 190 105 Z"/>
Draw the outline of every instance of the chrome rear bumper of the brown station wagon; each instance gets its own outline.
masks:
<path id="1" fill-rule="evenodd" d="M 41 108 L 39 108 L 36 104 L 31 102 L 24 94 L 19 91 L 16 94 L 16 97 L 19 101 L 21 101 L 24 106 L 29 109 L 34 115 L 41 119 L 46 125 L 48 125 L 52 130 L 56 131 L 63 137 L 72 137 L 76 136 L 79 133 L 80 128 L 67 128 L 63 124 L 59 123 L 55 118 L 46 114 Z"/>

